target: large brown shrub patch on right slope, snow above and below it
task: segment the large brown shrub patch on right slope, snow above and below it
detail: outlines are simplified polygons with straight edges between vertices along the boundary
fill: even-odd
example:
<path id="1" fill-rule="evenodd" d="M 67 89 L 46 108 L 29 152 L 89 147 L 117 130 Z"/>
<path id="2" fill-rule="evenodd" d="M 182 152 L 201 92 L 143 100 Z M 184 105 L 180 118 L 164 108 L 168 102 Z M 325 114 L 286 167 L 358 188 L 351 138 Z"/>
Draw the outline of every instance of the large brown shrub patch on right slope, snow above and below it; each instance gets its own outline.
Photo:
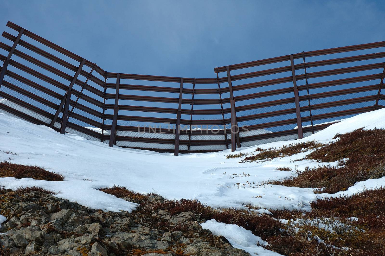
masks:
<path id="1" fill-rule="evenodd" d="M 306 159 L 339 161 L 338 167 L 306 168 L 298 176 L 269 183 L 289 187 L 316 187 L 322 189 L 322 192 L 335 193 L 345 191 L 358 181 L 377 179 L 385 175 L 384 129 L 357 129 L 337 136 L 340 140 L 316 149 Z"/>

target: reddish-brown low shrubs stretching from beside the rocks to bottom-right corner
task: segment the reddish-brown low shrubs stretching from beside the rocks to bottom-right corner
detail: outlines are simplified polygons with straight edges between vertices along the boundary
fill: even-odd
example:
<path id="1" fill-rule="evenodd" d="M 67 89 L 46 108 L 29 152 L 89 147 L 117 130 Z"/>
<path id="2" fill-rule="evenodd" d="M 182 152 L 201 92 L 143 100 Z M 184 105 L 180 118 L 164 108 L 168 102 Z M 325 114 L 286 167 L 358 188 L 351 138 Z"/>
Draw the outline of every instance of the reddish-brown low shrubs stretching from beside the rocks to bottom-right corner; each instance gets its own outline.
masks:
<path id="1" fill-rule="evenodd" d="M 138 195 L 123 187 L 120 187 L 119 191 L 116 194 L 121 197 Z M 318 199 L 311 203 L 311 212 L 270 210 L 273 215 L 258 214 L 248 209 L 214 209 L 191 199 L 156 201 L 151 200 L 155 194 L 139 195 L 142 204 L 136 213 L 141 218 L 144 218 L 141 212 L 145 212 L 147 216 L 159 210 L 166 211 L 171 216 L 186 211 L 193 212 L 198 222 L 216 219 L 250 230 L 269 243 L 267 249 L 283 255 L 385 254 L 385 188 L 364 191 L 354 196 Z M 289 221 L 285 223 L 279 219 Z M 170 228 L 167 221 L 157 221 L 154 225 L 166 230 Z M 184 229 L 186 227 L 177 226 L 172 231 Z"/>

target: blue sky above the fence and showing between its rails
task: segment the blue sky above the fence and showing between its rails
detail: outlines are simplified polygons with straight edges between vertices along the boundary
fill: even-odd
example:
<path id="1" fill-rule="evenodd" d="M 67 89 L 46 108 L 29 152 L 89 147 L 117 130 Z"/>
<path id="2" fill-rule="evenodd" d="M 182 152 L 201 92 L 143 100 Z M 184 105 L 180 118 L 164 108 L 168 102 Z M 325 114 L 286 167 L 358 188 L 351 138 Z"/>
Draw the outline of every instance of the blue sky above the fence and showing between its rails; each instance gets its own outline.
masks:
<path id="1" fill-rule="evenodd" d="M 15 34 L 5 26 L 10 20 L 91 62 L 96 62 L 107 72 L 129 74 L 216 77 L 213 72 L 216 66 L 385 40 L 383 32 L 385 4 L 382 1 L 0 0 L 0 7 L 1 30 Z M 9 44 L 4 38 L 1 40 Z M 380 61 L 383 60 L 375 62 Z M 300 62 L 297 60 L 296 63 Z M 320 67 L 319 70 L 325 69 L 330 67 Z M 317 70 L 311 70 L 313 71 Z M 378 70 L 368 71 L 365 74 L 377 73 Z M 224 76 L 224 73 L 221 76 Z M 313 82 L 317 81 L 320 80 Z M 114 81 L 109 80 L 109 82 Z M 242 82 L 246 83 L 246 81 Z M 136 84 L 152 85 L 148 82 Z M 292 83 L 277 85 L 274 88 L 280 86 L 292 86 Z M 191 85 L 187 87 L 191 88 Z M 348 87 L 340 87 L 340 89 L 345 88 Z M 267 89 L 255 89 L 253 92 L 260 90 Z M 132 93 L 143 92 L 133 91 Z M 242 92 L 237 93 L 242 94 Z M 175 97 L 175 95 L 159 96 Z M 278 98 L 258 100 L 274 99 Z M 340 99 L 345 98 L 334 100 Z M 152 102 L 126 103 L 160 105 Z M 254 102 L 247 104 L 251 103 Z M 320 102 L 314 102 L 314 104 L 317 103 Z M 246 102 L 237 104 L 243 105 Z M 307 103 L 302 102 L 302 104 Z M 171 105 L 162 105 L 162 107 L 175 107 Z M 184 109 L 190 107 L 190 105 L 182 106 Z M 220 106 L 206 106 L 206 108 L 218 107 Z M 224 107 L 229 106 L 225 104 Z M 194 105 L 194 109 L 199 108 L 201 106 Z M 239 114 L 249 115 L 273 110 L 277 109 L 259 109 Z M 333 111 L 336 110 L 338 109 Z M 158 116 L 148 112 L 122 114 Z M 161 117 L 174 118 L 174 114 L 162 114 Z M 221 116 L 194 117 L 194 119 L 199 118 L 221 119 Z M 282 118 L 292 117 L 290 115 Z M 189 116 L 182 116 L 182 119 L 189 119 Z M 250 124 L 261 122 L 269 121 L 260 119 Z"/>

